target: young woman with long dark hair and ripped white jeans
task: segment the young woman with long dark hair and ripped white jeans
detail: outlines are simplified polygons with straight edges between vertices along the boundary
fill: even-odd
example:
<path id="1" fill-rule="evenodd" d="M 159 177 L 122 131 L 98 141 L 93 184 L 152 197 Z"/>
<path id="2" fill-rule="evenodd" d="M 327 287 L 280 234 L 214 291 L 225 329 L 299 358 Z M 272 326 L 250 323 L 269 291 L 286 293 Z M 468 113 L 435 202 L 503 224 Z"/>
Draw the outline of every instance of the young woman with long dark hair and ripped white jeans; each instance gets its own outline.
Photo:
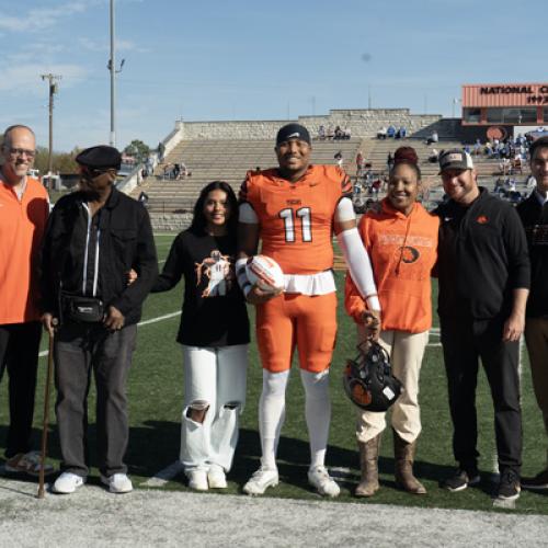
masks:
<path id="1" fill-rule="evenodd" d="M 249 320 L 235 276 L 237 213 L 230 185 L 206 185 L 152 287 L 169 290 L 184 276 L 176 339 L 184 362 L 180 458 L 189 487 L 198 491 L 227 487 L 246 403 Z"/>

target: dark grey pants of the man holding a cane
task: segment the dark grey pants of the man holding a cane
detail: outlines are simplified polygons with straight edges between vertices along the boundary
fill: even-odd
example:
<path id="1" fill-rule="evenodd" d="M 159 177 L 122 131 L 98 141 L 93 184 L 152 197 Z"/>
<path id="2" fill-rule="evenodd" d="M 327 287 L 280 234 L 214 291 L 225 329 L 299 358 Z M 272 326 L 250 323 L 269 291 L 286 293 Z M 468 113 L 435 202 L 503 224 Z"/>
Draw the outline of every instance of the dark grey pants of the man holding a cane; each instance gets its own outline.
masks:
<path id="1" fill-rule="evenodd" d="M 104 476 L 125 473 L 129 426 L 126 380 L 137 326 L 110 332 L 98 323 L 66 323 L 55 338 L 57 424 L 62 469 L 87 477 L 88 393 L 96 387 L 98 466 Z"/>

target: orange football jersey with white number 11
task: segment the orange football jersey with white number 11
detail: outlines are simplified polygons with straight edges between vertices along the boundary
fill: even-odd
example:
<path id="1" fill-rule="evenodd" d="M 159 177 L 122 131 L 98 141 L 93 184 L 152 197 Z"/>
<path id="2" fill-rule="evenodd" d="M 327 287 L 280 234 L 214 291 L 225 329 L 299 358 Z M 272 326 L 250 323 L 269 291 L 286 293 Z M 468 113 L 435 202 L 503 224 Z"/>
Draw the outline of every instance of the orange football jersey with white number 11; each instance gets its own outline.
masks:
<path id="1" fill-rule="evenodd" d="M 261 253 L 274 259 L 284 274 L 315 274 L 333 265 L 333 216 L 352 190 L 335 165 L 310 165 L 292 183 L 277 169 L 250 171 L 240 198 L 253 208 L 261 230 Z"/>

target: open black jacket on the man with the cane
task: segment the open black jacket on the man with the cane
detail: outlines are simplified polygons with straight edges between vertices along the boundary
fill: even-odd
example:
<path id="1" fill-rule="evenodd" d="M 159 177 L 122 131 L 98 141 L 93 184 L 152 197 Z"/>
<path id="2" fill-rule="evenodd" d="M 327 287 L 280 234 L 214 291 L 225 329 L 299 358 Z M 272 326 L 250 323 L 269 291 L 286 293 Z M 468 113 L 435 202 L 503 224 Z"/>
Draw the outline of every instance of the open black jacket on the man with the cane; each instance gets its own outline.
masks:
<path id="1" fill-rule="evenodd" d="M 49 216 L 42 250 L 42 309 L 58 316 L 58 292 L 69 253 L 83 253 L 85 241 L 75 232 L 83 194 L 62 196 Z M 99 279 L 105 306 L 114 306 L 125 324 L 140 319 L 141 306 L 158 275 L 150 218 L 145 207 L 116 189 L 101 210 L 101 255 Z M 134 269 L 137 281 L 127 285 Z"/>

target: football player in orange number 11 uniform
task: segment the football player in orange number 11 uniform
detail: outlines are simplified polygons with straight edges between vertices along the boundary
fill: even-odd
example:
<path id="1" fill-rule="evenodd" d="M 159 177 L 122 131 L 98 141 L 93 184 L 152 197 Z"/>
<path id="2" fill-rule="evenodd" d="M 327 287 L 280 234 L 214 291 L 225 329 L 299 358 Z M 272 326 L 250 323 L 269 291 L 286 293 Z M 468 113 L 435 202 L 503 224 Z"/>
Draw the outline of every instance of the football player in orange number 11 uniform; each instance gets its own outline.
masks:
<path id="1" fill-rule="evenodd" d="M 324 466 L 331 416 L 328 374 L 336 334 L 333 230 L 368 308 L 379 315 L 380 306 L 349 198 L 349 176 L 338 167 L 310 163 L 310 135 L 299 124 L 279 129 L 275 151 L 279 167 L 250 171 L 240 196 L 241 252 L 236 272 L 248 301 L 256 305 L 256 339 L 263 365 L 261 467 L 243 491 L 262 494 L 278 482 L 276 449 L 297 346 L 310 439 L 308 481 L 320 494 L 336 496 L 339 486 Z M 266 294 L 247 279 L 246 261 L 256 253 L 260 240 L 261 253 L 284 271 L 283 293 Z"/>

